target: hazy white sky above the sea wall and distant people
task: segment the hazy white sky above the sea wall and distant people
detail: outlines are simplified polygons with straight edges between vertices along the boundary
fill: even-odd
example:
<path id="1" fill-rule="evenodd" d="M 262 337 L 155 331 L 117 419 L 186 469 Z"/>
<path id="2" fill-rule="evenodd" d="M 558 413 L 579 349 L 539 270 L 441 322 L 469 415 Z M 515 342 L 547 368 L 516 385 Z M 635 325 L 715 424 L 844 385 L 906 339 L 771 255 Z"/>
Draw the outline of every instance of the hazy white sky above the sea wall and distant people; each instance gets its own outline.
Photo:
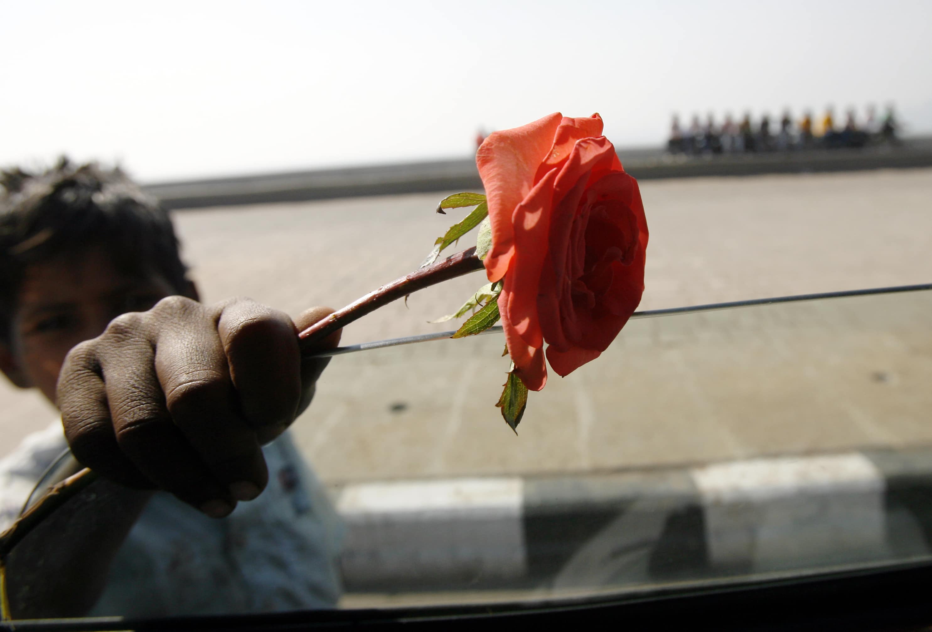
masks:
<path id="1" fill-rule="evenodd" d="M 932 1 L 4 2 L 0 166 L 145 181 L 469 155 L 481 126 L 893 101 L 932 131 Z"/>

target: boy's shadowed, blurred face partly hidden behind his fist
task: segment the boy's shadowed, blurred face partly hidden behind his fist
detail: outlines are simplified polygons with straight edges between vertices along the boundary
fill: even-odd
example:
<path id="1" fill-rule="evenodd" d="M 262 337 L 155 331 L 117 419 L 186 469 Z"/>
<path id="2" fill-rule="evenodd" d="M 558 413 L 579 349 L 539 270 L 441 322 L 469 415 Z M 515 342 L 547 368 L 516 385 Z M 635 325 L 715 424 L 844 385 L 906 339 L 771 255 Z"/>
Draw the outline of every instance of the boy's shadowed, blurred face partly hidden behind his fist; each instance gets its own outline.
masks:
<path id="1" fill-rule="evenodd" d="M 140 277 L 117 269 L 103 248 L 29 266 L 12 318 L 10 346 L 0 349 L 0 364 L 14 383 L 36 387 L 54 403 L 69 350 L 100 336 L 120 314 L 145 311 L 173 294 L 171 284 L 158 274 Z"/>

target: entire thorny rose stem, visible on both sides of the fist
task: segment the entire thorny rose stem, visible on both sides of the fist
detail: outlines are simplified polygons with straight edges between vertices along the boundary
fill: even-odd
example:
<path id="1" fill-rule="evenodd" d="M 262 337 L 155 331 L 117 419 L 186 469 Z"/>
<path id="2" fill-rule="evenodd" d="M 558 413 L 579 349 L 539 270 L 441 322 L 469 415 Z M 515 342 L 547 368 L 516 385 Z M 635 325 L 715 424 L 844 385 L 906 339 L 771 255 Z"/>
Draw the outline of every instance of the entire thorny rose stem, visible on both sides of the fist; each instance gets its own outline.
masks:
<path id="1" fill-rule="evenodd" d="M 401 279 L 396 279 L 370 292 L 362 298 L 350 303 L 347 307 L 332 313 L 328 318 L 314 323 L 298 334 L 301 347 L 304 350 L 313 347 L 314 343 L 334 333 L 340 327 L 356 321 L 371 311 L 387 305 L 402 296 L 412 294 L 425 287 L 440 282 L 461 277 L 469 272 L 480 270 L 483 263 L 475 255 L 475 248 L 469 248 L 461 253 L 453 254 L 430 268 L 420 268 Z M 81 470 L 70 476 L 48 491 L 48 494 L 37 501 L 19 520 L 0 534 L 0 575 L 3 575 L 3 562 L 6 561 L 13 547 L 25 538 L 30 531 L 38 526 L 53 511 L 58 509 L 65 501 L 75 496 L 82 489 L 88 487 L 97 478 L 90 470 Z M 0 577 L 0 580 L 5 578 Z M 6 594 L 6 582 L 0 581 L 2 592 Z M 3 596 L 0 596 L 2 598 Z"/>

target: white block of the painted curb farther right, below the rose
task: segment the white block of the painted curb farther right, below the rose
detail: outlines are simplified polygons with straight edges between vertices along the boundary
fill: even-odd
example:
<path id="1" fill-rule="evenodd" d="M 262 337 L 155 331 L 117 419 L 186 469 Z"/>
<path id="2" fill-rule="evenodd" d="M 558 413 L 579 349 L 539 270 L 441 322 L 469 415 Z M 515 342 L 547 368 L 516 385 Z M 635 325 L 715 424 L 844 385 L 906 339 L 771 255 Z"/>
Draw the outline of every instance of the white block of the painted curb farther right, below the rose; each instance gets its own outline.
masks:
<path id="1" fill-rule="evenodd" d="M 858 453 L 696 468 L 710 562 L 780 570 L 889 555 L 884 476 Z"/>

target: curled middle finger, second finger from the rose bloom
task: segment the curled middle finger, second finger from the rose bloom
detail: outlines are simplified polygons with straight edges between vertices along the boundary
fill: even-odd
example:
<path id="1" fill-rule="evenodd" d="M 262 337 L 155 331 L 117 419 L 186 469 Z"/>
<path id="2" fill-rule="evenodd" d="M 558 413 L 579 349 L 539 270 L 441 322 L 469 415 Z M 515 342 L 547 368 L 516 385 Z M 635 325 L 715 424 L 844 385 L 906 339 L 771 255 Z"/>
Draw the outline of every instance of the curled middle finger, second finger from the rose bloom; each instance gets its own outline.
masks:
<path id="1" fill-rule="evenodd" d="M 165 405 L 174 425 L 228 494 L 252 500 L 266 487 L 266 461 L 240 412 L 212 319 L 192 322 L 164 329 L 158 337 L 154 364 Z"/>

